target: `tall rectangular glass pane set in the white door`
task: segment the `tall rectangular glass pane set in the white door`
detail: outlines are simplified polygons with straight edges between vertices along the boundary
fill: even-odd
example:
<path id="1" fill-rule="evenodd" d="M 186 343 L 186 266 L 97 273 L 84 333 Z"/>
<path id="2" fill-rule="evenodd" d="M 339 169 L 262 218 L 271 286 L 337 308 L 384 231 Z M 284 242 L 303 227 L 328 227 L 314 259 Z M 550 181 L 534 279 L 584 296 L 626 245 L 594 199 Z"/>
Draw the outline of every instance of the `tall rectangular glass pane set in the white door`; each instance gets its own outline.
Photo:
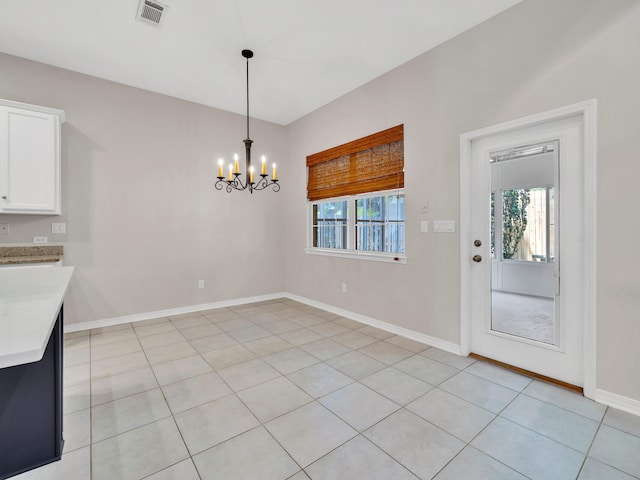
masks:
<path id="1" fill-rule="evenodd" d="M 491 156 L 491 330 L 556 345 L 555 143 Z"/>

